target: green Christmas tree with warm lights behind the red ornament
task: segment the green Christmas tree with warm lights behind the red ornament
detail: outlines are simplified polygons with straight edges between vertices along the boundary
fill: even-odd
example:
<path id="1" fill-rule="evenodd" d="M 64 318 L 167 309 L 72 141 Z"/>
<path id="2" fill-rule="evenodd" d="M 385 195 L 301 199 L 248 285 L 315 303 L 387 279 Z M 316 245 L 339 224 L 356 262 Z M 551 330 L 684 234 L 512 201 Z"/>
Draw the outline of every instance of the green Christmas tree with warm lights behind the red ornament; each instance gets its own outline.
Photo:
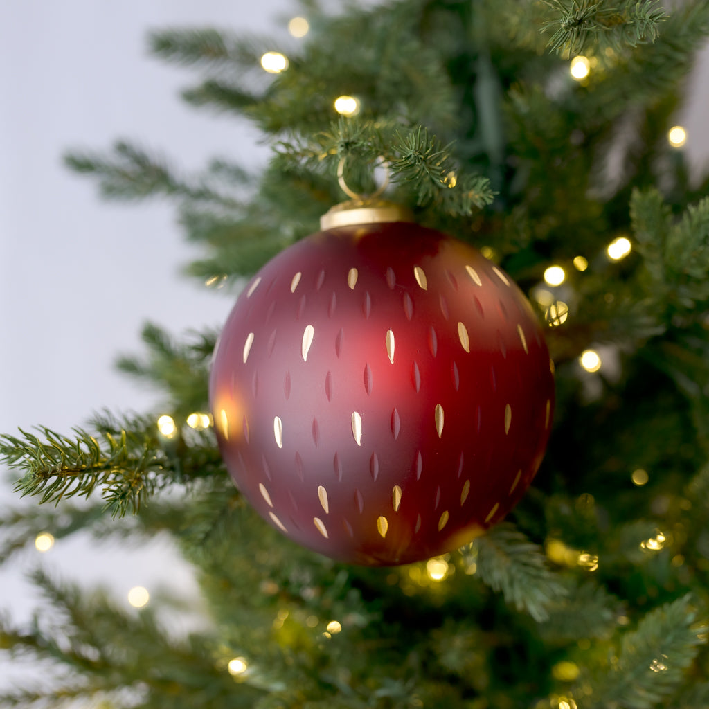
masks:
<path id="1" fill-rule="evenodd" d="M 674 118 L 709 2 L 401 0 L 337 12 L 307 2 L 298 12 L 291 30 L 304 36 L 287 47 L 209 28 L 150 37 L 155 55 L 199 74 L 190 104 L 262 130 L 273 156 L 263 174 L 218 160 L 185 177 L 129 143 L 73 152 L 69 166 L 110 199 L 174 200 L 203 251 L 191 274 L 247 298 L 253 274 L 342 201 L 338 169 L 369 194 L 383 160 L 390 199 L 479 249 L 484 268 L 530 298 L 556 386 L 553 416 L 542 400 L 546 456 L 506 518 L 493 508 L 479 526 L 496 524 L 459 549 L 391 566 L 333 560 L 287 539 L 277 510 L 267 523 L 230 481 L 218 446 L 230 428 L 208 401 L 219 333 L 146 326 L 145 352 L 120 367 L 160 387 L 160 411 L 0 438 L 18 493 L 39 503 L 4 513 L 0 559 L 42 530 L 167 532 L 194 567 L 208 623 L 179 635 L 163 613 L 179 612 L 174 599 L 133 612 L 38 571 L 55 614 L 27 627 L 2 618 L 0 649 L 49 661 L 56 679 L 30 678 L 0 705 L 706 707 L 709 177 L 691 179 Z M 468 274 L 478 286 L 479 272 Z M 351 269 L 350 291 L 365 276 Z M 425 269 L 414 277 L 425 291 Z M 468 352 L 475 335 L 458 326 L 454 345 Z M 517 328 L 517 347 L 542 347 Z M 396 333 L 380 343 L 391 364 Z M 239 343 L 243 364 L 256 341 Z M 508 408 L 505 434 L 517 425 Z M 396 439 L 406 412 L 390 414 Z M 474 426 L 469 411 L 437 404 L 441 441 L 460 417 Z M 286 423 L 273 419 L 279 448 Z M 352 435 L 357 445 L 367 435 L 357 411 Z M 481 495 L 474 474 L 455 490 L 461 507 Z M 276 493 L 262 487 L 268 519 Z M 387 489 L 394 512 L 406 494 Z M 318 496 L 328 519 L 332 493 Z M 392 518 L 381 519 L 391 539 Z M 447 510 L 436 520 L 444 529 Z M 313 529 L 328 538 L 319 517 Z"/>

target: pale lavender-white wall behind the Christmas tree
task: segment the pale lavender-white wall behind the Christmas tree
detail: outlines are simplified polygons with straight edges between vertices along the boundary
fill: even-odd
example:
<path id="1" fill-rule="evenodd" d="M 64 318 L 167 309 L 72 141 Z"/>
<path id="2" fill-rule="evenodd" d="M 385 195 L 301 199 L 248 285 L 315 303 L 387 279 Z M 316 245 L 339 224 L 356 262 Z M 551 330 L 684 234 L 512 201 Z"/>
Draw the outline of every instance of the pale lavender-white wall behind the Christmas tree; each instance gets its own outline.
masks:
<path id="1" fill-rule="evenodd" d="M 99 201 L 94 184 L 62 166 L 69 148 L 103 149 L 116 138 L 164 151 L 186 169 L 221 155 L 259 164 L 267 150 L 246 123 L 193 111 L 179 89 L 189 69 L 147 56 L 147 30 L 220 26 L 284 36 L 289 0 L 23 0 L 0 4 L 0 431 L 41 423 L 68 432 L 94 411 L 145 411 L 154 393 L 113 370 L 140 352 L 145 320 L 174 333 L 219 325 L 231 298 L 179 275 L 194 252 L 164 202 Z M 709 62 L 693 77 L 687 150 L 707 155 Z M 0 510 L 16 504 L 0 484 Z M 40 557 L 31 543 L 0 569 L 0 609 L 23 621 L 37 602 L 23 582 L 36 564 L 100 582 L 125 598 L 135 585 L 194 582 L 167 540 L 148 549 L 58 542 Z M 16 672 L 13 669 L 13 673 Z M 0 686 L 11 681 L 0 664 Z"/>

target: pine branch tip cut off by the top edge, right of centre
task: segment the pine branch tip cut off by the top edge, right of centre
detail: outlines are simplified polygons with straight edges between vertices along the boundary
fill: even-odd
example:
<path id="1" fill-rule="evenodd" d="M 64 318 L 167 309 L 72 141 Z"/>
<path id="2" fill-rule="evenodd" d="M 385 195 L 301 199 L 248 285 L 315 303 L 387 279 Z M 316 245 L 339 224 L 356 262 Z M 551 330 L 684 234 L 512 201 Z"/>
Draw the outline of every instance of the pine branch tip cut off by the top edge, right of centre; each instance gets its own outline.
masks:
<path id="1" fill-rule="evenodd" d="M 592 41 L 615 52 L 652 43 L 666 18 L 657 0 L 631 0 L 620 7 L 608 7 L 602 0 L 543 1 L 557 18 L 547 22 L 542 32 L 554 30 L 547 47 L 559 53 L 581 54 Z"/>

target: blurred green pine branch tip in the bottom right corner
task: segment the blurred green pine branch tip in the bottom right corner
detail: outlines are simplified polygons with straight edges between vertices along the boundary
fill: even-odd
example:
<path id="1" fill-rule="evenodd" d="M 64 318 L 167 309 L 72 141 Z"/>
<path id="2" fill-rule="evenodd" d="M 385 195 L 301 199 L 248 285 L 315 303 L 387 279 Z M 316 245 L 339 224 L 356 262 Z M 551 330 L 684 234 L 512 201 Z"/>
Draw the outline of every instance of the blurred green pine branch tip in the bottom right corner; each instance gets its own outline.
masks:
<path id="1" fill-rule="evenodd" d="M 703 642 L 695 620 L 688 596 L 650 611 L 623 637 L 618 658 L 593 686 L 588 706 L 652 709 L 672 696 Z"/>

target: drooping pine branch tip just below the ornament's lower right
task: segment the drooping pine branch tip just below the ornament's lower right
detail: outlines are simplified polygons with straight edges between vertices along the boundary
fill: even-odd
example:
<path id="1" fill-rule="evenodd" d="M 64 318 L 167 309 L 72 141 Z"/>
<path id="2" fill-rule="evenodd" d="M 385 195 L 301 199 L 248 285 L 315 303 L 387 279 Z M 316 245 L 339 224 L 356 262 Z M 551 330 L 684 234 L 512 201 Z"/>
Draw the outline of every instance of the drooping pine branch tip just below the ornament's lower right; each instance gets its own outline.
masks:
<path id="1" fill-rule="evenodd" d="M 542 549 L 516 527 L 502 523 L 473 542 L 477 550 L 477 576 L 502 591 L 505 600 L 541 623 L 549 607 L 566 595 L 566 588 L 547 565 Z"/>

